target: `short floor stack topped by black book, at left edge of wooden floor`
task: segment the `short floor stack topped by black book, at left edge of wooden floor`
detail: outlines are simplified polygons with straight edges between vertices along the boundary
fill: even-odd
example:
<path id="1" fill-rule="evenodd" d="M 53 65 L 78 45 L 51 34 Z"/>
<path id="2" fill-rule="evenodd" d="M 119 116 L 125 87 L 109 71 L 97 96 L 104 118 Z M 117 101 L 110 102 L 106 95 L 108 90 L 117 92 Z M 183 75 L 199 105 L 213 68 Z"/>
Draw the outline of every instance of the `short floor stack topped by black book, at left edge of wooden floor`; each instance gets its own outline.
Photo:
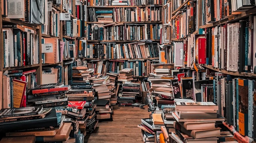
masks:
<path id="1" fill-rule="evenodd" d="M 95 100 L 96 104 L 96 119 L 99 121 L 112 121 L 112 110 L 109 100 Z"/>

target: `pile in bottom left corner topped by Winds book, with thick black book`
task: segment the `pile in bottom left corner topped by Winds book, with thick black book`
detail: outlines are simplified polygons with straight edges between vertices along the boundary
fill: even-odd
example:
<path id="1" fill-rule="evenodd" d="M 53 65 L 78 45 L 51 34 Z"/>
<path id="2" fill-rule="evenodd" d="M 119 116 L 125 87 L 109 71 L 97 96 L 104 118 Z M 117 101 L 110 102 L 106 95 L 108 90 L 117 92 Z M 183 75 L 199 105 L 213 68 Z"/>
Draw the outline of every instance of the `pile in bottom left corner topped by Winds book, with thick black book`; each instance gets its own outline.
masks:
<path id="1" fill-rule="evenodd" d="M 27 135 L 28 142 L 79 141 L 72 123 L 65 119 L 61 113 L 43 106 L 1 109 L 0 133 L 7 136 L 1 142 L 23 140 Z"/>

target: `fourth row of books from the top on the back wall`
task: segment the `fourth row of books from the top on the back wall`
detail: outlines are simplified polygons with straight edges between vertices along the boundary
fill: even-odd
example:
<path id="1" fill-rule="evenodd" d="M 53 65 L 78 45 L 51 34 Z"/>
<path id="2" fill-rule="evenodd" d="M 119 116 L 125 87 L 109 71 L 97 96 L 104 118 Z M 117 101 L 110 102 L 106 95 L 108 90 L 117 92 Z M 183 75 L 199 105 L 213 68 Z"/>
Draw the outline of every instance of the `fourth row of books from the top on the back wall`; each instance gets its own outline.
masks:
<path id="1" fill-rule="evenodd" d="M 104 59 L 135 59 L 159 57 L 159 43 L 135 42 L 129 44 L 89 44 L 84 57 Z"/>

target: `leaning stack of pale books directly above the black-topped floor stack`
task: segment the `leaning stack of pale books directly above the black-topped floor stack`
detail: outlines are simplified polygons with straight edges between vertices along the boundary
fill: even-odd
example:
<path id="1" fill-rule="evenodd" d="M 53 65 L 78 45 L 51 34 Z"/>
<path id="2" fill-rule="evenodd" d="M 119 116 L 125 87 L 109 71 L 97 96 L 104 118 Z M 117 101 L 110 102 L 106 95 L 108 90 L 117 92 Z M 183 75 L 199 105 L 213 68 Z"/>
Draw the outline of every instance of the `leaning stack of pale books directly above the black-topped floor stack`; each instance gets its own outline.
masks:
<path id="1" fill-rule="evenodd" d="M 103 77 L 101 74 L 99 74 L 97 77 L 92 77 L 89 79 L 91 81 L 91 84 L 93 85 L 93 89 L 95 89 L 97 99 L 111 98 L 109 88 L 106 86 L 107 84 L 106 79 L 107 77 L 106 76 Z"/>

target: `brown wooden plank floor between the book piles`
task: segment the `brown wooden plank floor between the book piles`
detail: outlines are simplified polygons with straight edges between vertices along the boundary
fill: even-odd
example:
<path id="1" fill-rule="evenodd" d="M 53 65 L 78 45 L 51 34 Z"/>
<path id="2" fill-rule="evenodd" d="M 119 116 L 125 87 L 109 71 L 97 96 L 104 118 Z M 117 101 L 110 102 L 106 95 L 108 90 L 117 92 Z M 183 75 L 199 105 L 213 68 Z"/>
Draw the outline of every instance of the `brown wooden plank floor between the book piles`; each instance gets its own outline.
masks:
<path id="1" fill-rule="evenodd" d="M 114 110 L 113 121 L 98 123 L 98 130 L 85 137 L 85 143 L 142 143 L 137 127 L 141 118 L 148 118 L 147 109 L 120 107 Z M 89 138 L 88 138 L 89 137 Z"/>

